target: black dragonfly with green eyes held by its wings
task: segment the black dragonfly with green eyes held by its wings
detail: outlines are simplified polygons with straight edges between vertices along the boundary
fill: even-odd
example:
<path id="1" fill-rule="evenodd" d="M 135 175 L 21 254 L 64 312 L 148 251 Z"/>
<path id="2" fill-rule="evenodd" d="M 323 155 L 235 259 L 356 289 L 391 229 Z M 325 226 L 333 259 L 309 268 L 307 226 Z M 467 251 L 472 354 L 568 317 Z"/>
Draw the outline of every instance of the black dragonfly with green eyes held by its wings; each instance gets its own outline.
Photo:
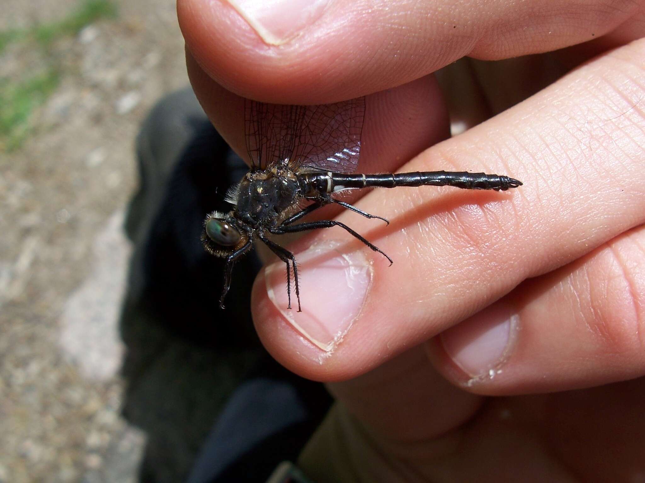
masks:
<path id="1" fill-rule="evenodd" d="M 224 285 L 219 301 L 230 288 L 233 265 L 254 243 L 264 243 L 286 263 L 286 291 L 291 308 L 293 285 L 301 312 L 298 265 L 295 256 L 270 237 L 315 229 L 340 227 L 390 261 L 372 242 L 336 220 L 302 221 L 313 211 L 330 204 L 388 223 L 340 200 L 337 193 L 372 187 L 453 186 L 462 189 L 506 191 L 521 182 L 509 176 L 467 171 L 417 171 L 414 173 L 356 173 L 361 154 L 365 98 L 319 106 L 244 102 L 244 135 L 250 170 L 225 199 L 228 213 L 213 211 L 203 223 L 204 249 L 226 259 Z"/>

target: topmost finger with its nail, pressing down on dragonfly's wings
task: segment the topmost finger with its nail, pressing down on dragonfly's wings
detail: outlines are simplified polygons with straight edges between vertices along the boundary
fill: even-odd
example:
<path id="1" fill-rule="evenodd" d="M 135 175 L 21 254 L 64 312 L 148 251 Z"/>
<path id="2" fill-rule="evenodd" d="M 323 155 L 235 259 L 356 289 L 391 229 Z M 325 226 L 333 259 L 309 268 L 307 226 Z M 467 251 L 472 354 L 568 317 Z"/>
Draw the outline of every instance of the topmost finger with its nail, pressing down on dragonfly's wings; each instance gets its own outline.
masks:
<path id="1" fill-rule="evenodd" d="M 464 55 L 504 59 L 618 26 L 628 32 L 642 4 L 178 0 L 177 14 L 188 50 L 224 88 L 265 102 L 323 104 L 405 84 Z"/>

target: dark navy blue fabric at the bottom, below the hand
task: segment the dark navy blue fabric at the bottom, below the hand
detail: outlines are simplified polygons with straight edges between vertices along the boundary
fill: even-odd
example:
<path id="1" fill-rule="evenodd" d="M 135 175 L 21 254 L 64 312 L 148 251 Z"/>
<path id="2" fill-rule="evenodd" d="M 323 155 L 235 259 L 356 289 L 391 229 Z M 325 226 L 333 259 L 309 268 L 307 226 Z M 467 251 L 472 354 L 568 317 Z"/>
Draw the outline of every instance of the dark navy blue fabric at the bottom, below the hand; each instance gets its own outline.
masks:
<path id="1" fill-rule="evenodd" d="M 206 439 L 188 483 L 264 482 L 281 461 L 297 459 L 329 404 L 312 381 L 248 379 Z"/>

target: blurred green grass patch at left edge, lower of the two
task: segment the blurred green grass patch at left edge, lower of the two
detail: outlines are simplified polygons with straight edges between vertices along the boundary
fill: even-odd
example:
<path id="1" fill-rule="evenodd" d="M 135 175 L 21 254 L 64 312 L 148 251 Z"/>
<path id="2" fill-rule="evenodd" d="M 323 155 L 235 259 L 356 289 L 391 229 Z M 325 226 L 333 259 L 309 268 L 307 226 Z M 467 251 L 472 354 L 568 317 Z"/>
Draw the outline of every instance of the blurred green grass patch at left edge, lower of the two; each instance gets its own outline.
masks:
<path id="1" fill-rule="evenodd" d="M 22 144 L 30 131 L 32 112 L 54 92 L 59 81 L 54 69 L 20 83 L 0 79 L 0 150 L 13 151 Z"/>

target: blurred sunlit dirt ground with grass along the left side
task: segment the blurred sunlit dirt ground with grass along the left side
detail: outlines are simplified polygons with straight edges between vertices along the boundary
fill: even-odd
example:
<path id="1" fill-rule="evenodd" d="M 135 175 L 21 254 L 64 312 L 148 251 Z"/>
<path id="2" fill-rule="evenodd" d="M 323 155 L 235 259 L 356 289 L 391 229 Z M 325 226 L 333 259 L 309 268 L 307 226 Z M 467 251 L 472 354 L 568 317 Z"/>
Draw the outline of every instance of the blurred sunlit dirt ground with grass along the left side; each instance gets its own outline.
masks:
<path id="1" fill-rule="evenodd" d="M 134 138 L 188 84 L 174 0 L 3 0 L 0 482 L 134 482 L 117 319 Z"/>

